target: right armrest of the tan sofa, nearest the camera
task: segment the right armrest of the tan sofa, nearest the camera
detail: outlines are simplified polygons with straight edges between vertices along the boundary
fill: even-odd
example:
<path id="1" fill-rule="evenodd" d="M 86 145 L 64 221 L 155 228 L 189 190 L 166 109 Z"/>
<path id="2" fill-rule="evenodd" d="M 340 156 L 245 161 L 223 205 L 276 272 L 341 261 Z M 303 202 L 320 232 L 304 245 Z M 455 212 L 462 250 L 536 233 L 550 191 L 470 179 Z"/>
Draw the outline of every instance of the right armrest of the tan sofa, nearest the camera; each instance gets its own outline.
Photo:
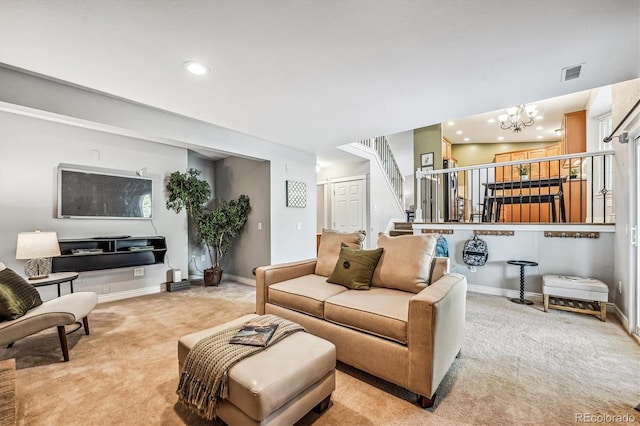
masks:
<path id="1" fill-rule="evenodd" d="M 450 273 L 409 301 L 408 389 L 431 398 L 460 352 L 465 334 L 467 279 Z"/>

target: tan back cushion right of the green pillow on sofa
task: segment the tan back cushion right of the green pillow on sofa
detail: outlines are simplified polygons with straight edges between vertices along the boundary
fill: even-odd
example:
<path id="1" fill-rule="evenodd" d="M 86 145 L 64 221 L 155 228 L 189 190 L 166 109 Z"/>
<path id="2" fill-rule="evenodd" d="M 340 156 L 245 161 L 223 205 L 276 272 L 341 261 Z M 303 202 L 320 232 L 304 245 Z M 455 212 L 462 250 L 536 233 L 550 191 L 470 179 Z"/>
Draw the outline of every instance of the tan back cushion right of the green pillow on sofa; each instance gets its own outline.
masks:
<path id="1" fill-rule="evenodd" d="M 434 235 L 389 237 L 382 234 L 378 247 L 384 248 L 384 252 L 373 273 L 373 286 L 418 293 L 429 285 L 436 249 Z"/>

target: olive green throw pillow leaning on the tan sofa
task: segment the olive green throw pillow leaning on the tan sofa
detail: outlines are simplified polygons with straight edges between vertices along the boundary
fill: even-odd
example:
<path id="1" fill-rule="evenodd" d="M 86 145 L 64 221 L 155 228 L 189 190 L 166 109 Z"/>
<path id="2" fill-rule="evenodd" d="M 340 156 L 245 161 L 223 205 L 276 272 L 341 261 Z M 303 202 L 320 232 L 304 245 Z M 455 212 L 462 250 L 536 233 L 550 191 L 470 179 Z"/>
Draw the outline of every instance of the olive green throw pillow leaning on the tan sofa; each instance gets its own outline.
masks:
<path id="1" fill-rule="evenodd" d="M 340 284 L 352 290 L 368 290 L 382 250 L 352 249 L 342 243 L 338 261 L 327 282 Z"/>

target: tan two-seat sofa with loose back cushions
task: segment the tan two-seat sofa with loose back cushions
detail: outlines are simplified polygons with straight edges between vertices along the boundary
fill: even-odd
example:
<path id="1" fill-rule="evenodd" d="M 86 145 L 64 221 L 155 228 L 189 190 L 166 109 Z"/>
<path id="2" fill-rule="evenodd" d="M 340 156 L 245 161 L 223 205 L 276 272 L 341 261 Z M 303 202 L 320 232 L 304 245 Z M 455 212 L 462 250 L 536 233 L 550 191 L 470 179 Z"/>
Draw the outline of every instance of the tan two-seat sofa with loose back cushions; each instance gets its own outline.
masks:
<path id="1" fill-rule="evenodd" d="M 338 360 L 430 407 L 462 348 L 466 278 L 448 273 L 447 258 L 433 257 L 434 236 L 382 235 L 370 289 L 327 282 L 343 260 L 336 241 L 357 247 L 362 237 L 353 235 L 325 231 L 318 259 L 257 268 L 256 311 L 298 322 L 332 342 Z"/>

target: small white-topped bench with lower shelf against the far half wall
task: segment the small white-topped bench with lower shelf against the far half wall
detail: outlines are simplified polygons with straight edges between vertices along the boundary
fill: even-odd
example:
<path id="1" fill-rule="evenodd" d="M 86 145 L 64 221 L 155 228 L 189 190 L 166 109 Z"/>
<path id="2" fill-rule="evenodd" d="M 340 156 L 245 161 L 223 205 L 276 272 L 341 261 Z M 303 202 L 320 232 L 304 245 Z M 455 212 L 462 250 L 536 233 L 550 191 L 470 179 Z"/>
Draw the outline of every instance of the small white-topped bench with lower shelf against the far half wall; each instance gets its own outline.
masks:
<path id="1" fill-rule="evenodd" d="M 579 312 L 607 320 L 609 287 L 594 278 L 567 275 L 544 275 L 542 277 L 544 311 L 549 308 Z"/>

